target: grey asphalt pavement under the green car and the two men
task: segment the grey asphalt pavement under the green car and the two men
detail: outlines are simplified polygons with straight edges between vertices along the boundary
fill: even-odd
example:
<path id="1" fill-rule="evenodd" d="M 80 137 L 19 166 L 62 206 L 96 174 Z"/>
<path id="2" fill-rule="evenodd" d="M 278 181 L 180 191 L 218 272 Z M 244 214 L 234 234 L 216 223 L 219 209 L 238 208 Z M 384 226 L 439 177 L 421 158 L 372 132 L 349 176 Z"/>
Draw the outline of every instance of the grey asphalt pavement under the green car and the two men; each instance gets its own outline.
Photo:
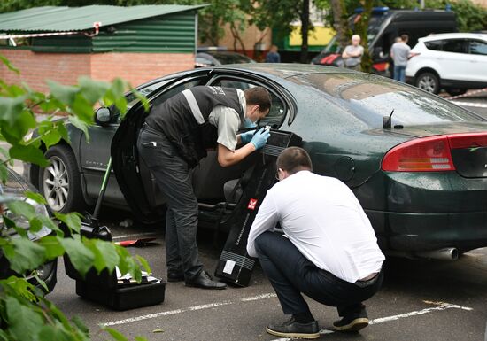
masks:
<path id="1" fill-rule="evenodd" d="M 106 211 L 106 210 L 105 210 Z M 164 234 L 157 227 L 121 228 L 117 226 L 127 213 L 105 212 L 102 223 L 112 229 L 114 240 L 155 236 L 143 247 L 130 247 L 149 261 L 153 275 L 166 278 Z M 205 268 L 213 273 L 226 236 L 215 244 L 213 232 L 198 232 L 198 245 Z M 205 291 L 167 283 L 162 304 L 113 311 L 86 301 L 75 293 L 74 281 L 66 277 L 59 261 L 58 284 L 49 298 L 70 317 L 81 316 L 94 340 L 108 339 L 97 332 L 102 324 L 117 329 L 129 339 L 284 341 L 268 335 L 267 324 L 287 317 L 261 268 L 254 269 L 251 285 L 228 287 L 223 291 Z M 344 334 L 331 330 L 336 309 L 308 299 L 327 340 L 444 341 L 483 340 L 487 322 L 487 248 L 468 252 L 457 261 L 388 259 L 383 289 L 367 304 L 371 325 L 359 333 Z"/>

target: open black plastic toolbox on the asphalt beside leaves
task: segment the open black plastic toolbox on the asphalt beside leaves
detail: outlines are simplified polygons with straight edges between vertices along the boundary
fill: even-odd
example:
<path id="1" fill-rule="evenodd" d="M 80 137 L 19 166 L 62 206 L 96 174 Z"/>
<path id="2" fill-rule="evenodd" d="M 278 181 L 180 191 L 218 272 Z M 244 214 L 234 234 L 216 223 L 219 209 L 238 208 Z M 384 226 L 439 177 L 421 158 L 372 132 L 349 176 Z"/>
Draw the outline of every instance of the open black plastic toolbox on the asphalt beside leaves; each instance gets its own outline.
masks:
<path id="1" fill-rule="evenodd" d="M 105 226 L 98 227 L 95 219 L 81 224 L 81 235 L 105 241 L 112 240 L 110 230 Z M 82 278 L 73 267 L 67 254 L 65 254 L 64 260 L 66 275 L 76 280 L 76 294 L 81 298 L 116 310 L 153 306 L 164 302 L 166 282 L 161 279 L 144 275 L 141 283 L 135 283 L 134 280 L 118 276 L 116 271 L 112 271 L 110 274 L 107 270 L 103 270 L 97 274 L 95 268 L 91 268 L 85 278 Z"/>

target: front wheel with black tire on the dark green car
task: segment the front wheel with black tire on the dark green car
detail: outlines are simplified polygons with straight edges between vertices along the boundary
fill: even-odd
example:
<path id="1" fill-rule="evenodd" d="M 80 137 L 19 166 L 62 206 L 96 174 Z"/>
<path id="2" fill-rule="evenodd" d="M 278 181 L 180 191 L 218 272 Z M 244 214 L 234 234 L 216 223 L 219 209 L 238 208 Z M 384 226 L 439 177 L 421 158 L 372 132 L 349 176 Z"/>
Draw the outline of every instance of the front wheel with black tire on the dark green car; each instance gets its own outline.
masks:
<path id="1" fill-rule="evenodd" d="M 58 144 L 45 153 L 50 166 L 39 169 L 39 190 L 53 212 L 82 212 L 86 206 L 73 151 Z"/>

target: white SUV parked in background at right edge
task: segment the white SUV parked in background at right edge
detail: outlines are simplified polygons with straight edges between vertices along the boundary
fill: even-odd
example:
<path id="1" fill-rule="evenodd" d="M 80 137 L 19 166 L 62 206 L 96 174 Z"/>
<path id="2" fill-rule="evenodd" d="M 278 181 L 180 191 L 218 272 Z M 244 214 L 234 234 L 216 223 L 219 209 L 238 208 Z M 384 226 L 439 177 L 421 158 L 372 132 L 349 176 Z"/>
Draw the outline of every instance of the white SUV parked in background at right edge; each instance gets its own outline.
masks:
<path id="1" fill-rule="evenodd" d="M 411 52 L 406 82 L 420 89 L 435 94 L 444 89 L 454 96 L 487 87 L 487 35 L 428 35 Z"/>

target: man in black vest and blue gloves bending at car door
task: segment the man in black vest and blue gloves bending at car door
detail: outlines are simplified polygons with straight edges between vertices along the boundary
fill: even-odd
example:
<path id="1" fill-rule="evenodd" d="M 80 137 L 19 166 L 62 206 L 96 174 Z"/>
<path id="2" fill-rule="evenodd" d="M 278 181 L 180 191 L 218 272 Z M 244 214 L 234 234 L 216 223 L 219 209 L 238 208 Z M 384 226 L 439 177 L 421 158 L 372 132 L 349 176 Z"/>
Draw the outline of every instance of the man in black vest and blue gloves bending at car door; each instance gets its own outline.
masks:
<path id="1" fill-rule="evenodd" d="M 224 289 L 203 269 L 197 252 L 197 198 L 189 170 L 217 148 L 218 162 L 228 167 L 262 148 L 266 129 L 241 135 L 269 112 L 271 97 L 262 87 L 240 89 L 197 86 L 154 107 L 147 117 L 137 148 L 167 200 L 167 280 Z M 243 144 L 236 149 L 236 145 Z"/>

